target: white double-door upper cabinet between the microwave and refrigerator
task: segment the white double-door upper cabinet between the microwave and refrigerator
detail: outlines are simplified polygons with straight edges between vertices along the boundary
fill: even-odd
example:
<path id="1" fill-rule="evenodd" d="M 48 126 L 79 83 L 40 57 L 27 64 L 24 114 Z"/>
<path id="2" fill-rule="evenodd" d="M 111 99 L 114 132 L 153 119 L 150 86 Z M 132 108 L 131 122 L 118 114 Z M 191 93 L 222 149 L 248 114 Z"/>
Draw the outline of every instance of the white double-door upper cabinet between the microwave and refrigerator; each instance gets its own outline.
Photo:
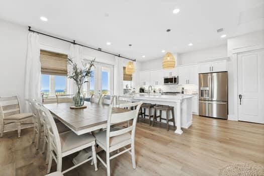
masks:
<path id="1" fill-rule="evenodd" d="M 196 65 L 179 67 L 179 84 L 198 85 L 198 68 Z"/>

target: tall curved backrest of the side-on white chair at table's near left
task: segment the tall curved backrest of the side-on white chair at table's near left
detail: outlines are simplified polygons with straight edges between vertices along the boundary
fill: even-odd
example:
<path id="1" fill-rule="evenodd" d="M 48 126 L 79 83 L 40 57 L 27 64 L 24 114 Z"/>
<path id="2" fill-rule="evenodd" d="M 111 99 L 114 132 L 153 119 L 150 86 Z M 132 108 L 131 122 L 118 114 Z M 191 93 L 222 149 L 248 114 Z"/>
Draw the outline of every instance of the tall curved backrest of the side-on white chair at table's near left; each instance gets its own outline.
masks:
<path id="1" fill-rule="evenodd" d="M 55 124 L 55 121 L 49 112 L 47 108 L 44 106 L 41 106 L 39 109 L 39 114 L 43 118 L 43 121 L 45 122 L 47 126 L 47 132 L 48 132 L 48 139 L 49 139 L 49 149 L 53 155 L 54 158 L 57 158 L 57 164 L 62 165 L 62 153 L 61 153 L 61 143 L 60 143 L 60 137 L 59 132 L 57 129 L 57 126 Z"/>

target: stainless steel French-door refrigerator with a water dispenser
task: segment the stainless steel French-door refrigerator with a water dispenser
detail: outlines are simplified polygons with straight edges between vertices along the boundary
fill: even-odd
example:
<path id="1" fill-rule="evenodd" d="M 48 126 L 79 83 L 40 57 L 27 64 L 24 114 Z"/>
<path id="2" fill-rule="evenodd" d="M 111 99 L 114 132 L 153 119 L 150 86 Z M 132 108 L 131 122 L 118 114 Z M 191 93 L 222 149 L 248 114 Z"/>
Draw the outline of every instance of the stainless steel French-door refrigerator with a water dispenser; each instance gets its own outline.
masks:
<path id="1" fill-rule="evenodd" d="M 227 119 L 227 71 L 199 74 L 199 115 Z"/>

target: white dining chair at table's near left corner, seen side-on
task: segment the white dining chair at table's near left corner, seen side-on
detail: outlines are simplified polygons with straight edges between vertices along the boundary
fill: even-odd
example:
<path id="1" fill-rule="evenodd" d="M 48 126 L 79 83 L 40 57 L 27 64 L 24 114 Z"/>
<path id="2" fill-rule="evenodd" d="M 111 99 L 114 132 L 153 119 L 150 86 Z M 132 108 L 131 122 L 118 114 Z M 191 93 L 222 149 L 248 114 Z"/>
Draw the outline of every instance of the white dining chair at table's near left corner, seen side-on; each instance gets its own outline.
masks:
<path id="1" fill-rule="evenodd" d="M 93 159 L 93 162 L 95 164 L 95 170 L 98 170 L 97 168 L 97 158 L 96 158 L 96 149 L 95 149 L 95 137 L 89 133 L 83 134 L 83 135 L 76 135 L 72 131 L 68 131 L 65 133 L 58 133 L 58 129 L 56 127 L 55 121 L 52 118 L 50 112 L 45 107 L 40 107 L 39 113 L 43 120 L 47 124 L 47 130 L 48 130 L 48 139 L 49 139 L 49 165 L 48 165 L 48 171 L 50 172 L 52 159 L 54 159 L 57 163 L 57 171 L 62 171 L 62 157 L 68 156 L 74 152 L 80 151 L 87 147 L 92 147 L 92 153 L 93 156 L 91 158 L 88 158 L 64 171 L 62 173 L 74 169 L 75 167 L 90 161 Z"/>

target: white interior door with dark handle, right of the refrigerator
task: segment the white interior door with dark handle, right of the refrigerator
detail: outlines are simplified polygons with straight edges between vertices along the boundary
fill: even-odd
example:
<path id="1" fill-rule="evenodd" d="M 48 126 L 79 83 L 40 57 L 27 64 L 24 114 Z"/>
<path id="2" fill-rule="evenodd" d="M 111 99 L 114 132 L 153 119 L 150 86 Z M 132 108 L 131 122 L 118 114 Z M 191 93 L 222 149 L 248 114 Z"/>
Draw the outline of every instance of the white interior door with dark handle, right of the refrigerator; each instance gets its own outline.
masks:
<path id="1" fill-rule="evenodd" d="M 264 50 L 240 53 L 237 59 L 238 120 L 264 123 Z"/>

